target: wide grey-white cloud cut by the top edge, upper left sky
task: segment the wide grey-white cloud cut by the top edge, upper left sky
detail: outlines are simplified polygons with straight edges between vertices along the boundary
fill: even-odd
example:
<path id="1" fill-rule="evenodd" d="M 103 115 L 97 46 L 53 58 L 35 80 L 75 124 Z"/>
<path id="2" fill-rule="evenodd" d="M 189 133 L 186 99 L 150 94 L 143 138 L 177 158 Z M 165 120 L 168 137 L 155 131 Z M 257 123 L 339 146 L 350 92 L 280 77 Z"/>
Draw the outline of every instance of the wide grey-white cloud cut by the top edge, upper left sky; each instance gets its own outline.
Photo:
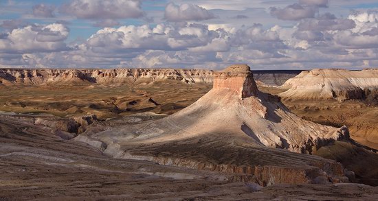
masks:
<path id="1" fill-rule="evenodd" d="M 80 19 L 127 19 L 144 16 L 140 0 L 71 0 L 60 12 Z"/>

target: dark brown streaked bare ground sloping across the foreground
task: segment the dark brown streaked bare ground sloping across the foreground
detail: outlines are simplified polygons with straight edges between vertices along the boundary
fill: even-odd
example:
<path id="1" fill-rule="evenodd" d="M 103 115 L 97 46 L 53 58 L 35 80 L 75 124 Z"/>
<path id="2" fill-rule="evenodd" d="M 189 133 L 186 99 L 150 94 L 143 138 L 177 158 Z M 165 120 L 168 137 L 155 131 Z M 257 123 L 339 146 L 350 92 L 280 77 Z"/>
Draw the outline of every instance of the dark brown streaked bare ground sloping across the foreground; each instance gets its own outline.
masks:
<path id="1" fill-rule="evenodd" d="M 0 200 L 376 200 L 359 184 L 225 182 L 227 174 L 114 159 L 34 126 L 0 119 Z M 120 121 L 120 120 L 118 120 Z"/>

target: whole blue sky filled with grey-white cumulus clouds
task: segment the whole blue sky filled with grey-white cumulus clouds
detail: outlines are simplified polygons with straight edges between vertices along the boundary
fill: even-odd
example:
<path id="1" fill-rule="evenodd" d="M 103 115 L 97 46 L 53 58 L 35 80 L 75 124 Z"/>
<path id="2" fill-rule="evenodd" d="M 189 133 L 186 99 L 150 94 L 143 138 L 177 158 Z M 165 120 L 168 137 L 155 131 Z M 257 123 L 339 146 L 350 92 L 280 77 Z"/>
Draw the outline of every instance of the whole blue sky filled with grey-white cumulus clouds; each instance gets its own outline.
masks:
<path id="1" fill-rule="evenodd" d="M 377 0 L 0 0 L 0 67 L 378 67 Z"/>

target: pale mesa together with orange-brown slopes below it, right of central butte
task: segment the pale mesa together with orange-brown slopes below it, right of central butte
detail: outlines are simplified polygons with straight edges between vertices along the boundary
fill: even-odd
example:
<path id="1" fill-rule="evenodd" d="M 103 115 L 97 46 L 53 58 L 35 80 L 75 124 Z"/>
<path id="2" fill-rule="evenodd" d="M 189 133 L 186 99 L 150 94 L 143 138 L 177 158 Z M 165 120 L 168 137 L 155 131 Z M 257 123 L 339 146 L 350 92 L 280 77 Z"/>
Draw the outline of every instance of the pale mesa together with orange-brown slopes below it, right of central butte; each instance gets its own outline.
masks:
<path id="1" fill-rule="evenodd" d="M 378 69 L 302 71 L 274 90 L 300 117 L 346 125 L 353 139 L 378 149 Z"/>

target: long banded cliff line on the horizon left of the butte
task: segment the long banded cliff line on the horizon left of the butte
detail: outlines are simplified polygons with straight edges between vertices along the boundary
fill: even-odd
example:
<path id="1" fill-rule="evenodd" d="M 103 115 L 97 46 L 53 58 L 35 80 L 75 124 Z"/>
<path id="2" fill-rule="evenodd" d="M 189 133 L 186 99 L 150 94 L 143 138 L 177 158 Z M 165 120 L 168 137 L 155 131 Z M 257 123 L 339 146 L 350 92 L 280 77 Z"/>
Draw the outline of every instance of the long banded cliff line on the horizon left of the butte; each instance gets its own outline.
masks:
<path id="1" fill-rule="evenodd" d="M 212 73 L 201 69 L 0 69 L 0 84 L 125 84 L 156 80 L 194 84 L 211 83 Z"/>

